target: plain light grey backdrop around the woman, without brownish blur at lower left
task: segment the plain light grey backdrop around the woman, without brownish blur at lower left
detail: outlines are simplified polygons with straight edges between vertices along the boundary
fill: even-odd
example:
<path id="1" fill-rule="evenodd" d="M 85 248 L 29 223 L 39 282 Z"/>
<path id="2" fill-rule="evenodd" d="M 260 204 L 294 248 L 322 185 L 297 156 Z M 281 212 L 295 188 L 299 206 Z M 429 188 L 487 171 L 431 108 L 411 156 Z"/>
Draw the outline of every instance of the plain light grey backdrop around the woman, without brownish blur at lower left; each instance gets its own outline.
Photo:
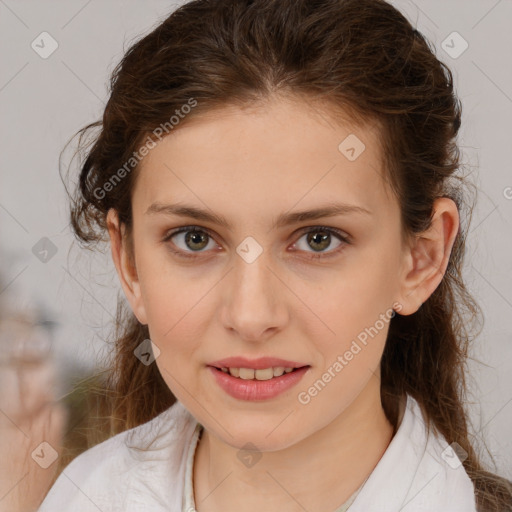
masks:
<path id="1" fill-rule="evenodd" d="M 466 278 L 485 315 L 471 352 L 480 361 L 470 361 L 472 431 L 484 436 L 494 469 L 512 478 L 512 1 L 392 3 L 435 45 L 463 102 L 459 140 L 478 187 Z M 123 52 L 175 6 L 0 0 L 0 294 L 15 308 L 36 307 L 57 322 L 52 353 L 60 396 L 68 391 L 65 375 L 105 356 L 119 285 L 108 249 L 72 246 L 59 153 L 75 131 L 100 118 Z M 43 31 L 59 45 L 47 59 L 31 48 Z M 442 46 L 453 31 L 469 45 L 457 58 Z M 65 169 L 74 148 L 63 155 Z M 42 237 L 57 248 L 46 263 L 32 252 Z"/>

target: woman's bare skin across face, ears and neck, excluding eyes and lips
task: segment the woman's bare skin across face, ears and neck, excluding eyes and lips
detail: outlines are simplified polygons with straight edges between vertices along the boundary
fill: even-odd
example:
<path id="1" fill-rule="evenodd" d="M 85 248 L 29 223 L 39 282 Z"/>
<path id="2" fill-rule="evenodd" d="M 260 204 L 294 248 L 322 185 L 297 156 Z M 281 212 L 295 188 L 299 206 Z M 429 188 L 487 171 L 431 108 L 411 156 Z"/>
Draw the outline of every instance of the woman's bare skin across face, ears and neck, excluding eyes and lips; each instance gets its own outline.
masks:
<path id="1" fill-rule="evenodd" d="M 156 364 L 205 427 L 194 461 L 197 510 L 335 510 L 392 438 L 379 373 L 389 324 L 309 403 L 300 403 L 298 393 L 379 315 L 393 307 L 409 315 L 427 300 L 448 264 L 457 207 L 438 199 L 431 228 L 404 239 L 398 200 L 383 178 L 378 128 L 327 119 L 299 98 L 226 106 L 185 121 L 139 169 L 133 258 L 114 210 L 107 220 L 126 297 L 161 351 Z M 352 133 L 366 146 L 355 161 L 338 150 Z M 330 201 L 370 213 L 271 228 L 281 213 Z M 213 211 L 231 230 L 147 214 L 155 202 Z M 212 235 L 202 252 L 187 246 L 183 233 L 162 241 L 171 229 L 190 225 Z M 332 235 L 330 245 L 315 251 L 304 234 L 315 226 L 337 228 L 351 243 Z M 263 249 L 252 263 L 236 252 L 247 236 Z M 180 259 L 171 247 L 198 257 Z M 310 258 L 318 253 L 324 258 Z M 275 356 L 311 368 L 276 398 L 242 401 L 219 388 L 206 367 L 229 356 Z M 237 457 L 248 442 L 262 455 L 250 467 Z"/>

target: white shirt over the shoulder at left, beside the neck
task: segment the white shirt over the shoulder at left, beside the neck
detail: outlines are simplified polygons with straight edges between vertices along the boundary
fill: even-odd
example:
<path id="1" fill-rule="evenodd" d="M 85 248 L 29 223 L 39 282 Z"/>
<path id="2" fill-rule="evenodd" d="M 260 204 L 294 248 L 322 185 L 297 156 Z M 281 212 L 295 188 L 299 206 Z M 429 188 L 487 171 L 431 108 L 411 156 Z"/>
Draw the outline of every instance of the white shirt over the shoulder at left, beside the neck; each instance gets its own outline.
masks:
<path id="1" fill-rule="evenodd" d="M 176 402 L 151 421 L 90 448 L 62 471 L 39 512 L 135 512 L 148 505 L 154 511 L 174 510 L 169 500 L 179 494 L 196 424 Z"/>

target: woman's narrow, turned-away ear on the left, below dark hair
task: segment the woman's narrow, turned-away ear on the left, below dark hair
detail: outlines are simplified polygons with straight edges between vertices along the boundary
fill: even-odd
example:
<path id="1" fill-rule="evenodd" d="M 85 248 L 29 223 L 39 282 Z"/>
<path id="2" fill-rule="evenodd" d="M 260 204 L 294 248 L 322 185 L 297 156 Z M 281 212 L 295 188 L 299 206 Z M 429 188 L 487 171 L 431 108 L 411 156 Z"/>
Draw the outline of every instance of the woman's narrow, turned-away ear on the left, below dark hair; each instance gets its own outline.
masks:
<path id="1" fill-rule="evenodd" d="M 126 299 L 133 314 L 143 325 L 147 324 L 146 310 L 140 291 L 137 269 L 130 257 L 125 236 L 125 226 L 119 223 L 117 211 L 111 208 L 107 213 L 107 228 L 110 236 L 112 259 L 117 270 Z"/>

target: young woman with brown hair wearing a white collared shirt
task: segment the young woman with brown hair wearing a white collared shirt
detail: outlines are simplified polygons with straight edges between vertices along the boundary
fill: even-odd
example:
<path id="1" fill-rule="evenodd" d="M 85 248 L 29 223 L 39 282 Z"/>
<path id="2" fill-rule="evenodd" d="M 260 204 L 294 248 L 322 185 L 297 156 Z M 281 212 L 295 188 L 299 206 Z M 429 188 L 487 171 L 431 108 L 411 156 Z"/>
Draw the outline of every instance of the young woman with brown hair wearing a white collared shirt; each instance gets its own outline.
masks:
<path id="1" fill-rule="evenodd" d="M 198 0 L 116 68 L 114 435 L 40 511 L 507 510 L 466 426 L 452 74 L 382 0 Z"/>

